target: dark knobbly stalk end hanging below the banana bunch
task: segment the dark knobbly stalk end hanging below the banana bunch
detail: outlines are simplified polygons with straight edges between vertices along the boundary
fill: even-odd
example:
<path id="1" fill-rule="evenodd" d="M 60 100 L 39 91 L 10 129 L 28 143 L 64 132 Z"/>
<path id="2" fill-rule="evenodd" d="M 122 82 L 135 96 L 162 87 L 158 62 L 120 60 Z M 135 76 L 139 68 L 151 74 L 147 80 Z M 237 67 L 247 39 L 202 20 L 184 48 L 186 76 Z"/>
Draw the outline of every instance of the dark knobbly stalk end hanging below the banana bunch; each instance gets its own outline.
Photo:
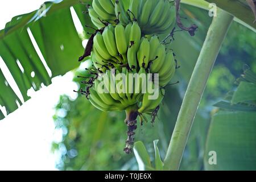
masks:
<path id="1" fill-rule="evenodd" d="M 131 154 L 133 152 L 133 144 L 134 144 L 134 135 L 135 130 L 137 129 L 137 117 L 138 117 L 138 108 L 137 106 L 131 106 L 125 110 L 126 112 L 126 119 L 125 123 L 127 124 L 128 131 L 127 131 L 127 140 L 126 140 L 126 147 L 123 148 L 126 154 Z"/>

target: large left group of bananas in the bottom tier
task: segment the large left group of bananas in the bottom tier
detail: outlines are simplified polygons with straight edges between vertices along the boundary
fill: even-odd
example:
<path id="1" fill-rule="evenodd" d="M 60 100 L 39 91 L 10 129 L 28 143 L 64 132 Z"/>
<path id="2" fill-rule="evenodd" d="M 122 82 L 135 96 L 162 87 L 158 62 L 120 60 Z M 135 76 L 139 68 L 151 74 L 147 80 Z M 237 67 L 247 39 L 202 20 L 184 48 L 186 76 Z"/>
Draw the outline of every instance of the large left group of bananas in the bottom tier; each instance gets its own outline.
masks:
<path id="1" fill-rule="evenodd" d="M 142 81 L 146 72 L 107 70 L 102 80 L 95 80 L 90 88 L 89 101 L 102 111 L 122 111 L 142 98 Z M 135 76 L 134 76 L 135 75 Z M 138 78 L 138 81 L 137 81 Z"/>

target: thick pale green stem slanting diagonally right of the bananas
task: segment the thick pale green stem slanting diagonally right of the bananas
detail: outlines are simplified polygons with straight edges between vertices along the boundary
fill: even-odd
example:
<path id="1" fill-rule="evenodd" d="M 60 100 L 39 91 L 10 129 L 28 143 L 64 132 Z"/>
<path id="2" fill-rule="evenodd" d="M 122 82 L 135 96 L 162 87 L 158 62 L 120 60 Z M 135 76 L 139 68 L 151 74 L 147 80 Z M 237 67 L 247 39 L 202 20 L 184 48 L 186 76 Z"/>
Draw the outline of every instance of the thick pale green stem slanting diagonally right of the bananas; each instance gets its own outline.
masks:
<path id="1" fill-rule="evenodd" d="M 217 10 L 217 16 L 213 18 L 177 117 L 164 160 L 165 170 L 179 169 L 205 85 L 232 20 L 233 16 L 221 9 Z"/>

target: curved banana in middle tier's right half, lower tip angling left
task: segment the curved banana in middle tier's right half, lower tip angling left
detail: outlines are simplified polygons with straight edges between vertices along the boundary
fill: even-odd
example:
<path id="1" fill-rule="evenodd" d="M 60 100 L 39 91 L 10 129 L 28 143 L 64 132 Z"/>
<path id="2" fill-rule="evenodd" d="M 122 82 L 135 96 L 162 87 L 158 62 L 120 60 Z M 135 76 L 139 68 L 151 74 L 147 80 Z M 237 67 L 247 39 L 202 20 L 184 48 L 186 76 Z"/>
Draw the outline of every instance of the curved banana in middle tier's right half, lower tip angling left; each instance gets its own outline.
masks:
<path id="1" fill-rule="evenodd" d="M 156 49 L 156 54 L 158 57 L 151 64 L 150 73 L 158 73 L 164 64 L 164 58 L 166 57 L 166 46 L 160 44 L 158 49 Z"/>

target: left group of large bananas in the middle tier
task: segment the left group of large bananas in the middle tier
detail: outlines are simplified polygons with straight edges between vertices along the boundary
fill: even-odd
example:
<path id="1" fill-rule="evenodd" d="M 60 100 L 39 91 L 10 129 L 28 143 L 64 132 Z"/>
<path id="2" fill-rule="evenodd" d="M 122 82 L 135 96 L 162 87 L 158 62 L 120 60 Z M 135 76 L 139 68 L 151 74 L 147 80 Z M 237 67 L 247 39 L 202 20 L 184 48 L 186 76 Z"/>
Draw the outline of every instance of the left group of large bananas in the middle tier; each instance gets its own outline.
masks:
<path id="1" fill-rule="evenodd" d="M 128 24 L 126 27 L 121 23 L 115 27 L 109 24 L 102 34 L 97 32 L 93 38 L 93 63 L 105 66 L 111 63 L 117 67 L 118 64 L 129 64 L 130 68 L 137 69 L 137 51 L 140 43 L 141 28 L 137 22 Z M 99 65 L 95 65 L 96 68 Z"/>

